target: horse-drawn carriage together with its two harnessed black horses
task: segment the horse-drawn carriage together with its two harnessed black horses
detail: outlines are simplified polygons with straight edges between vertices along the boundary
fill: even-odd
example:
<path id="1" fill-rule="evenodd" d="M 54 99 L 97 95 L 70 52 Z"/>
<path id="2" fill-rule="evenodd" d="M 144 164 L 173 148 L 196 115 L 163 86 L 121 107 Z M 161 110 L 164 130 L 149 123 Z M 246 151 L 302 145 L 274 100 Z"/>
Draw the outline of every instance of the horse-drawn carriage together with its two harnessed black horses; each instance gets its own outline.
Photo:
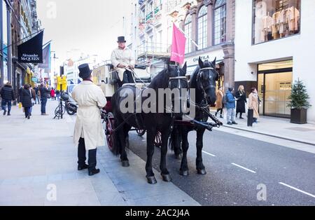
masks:
<path id="1" fill-rule="evenodd" d="M 111 64 L 105 64 L 102 67 L 96 68 L 93 71 L 94 81 L 102 88 L 107 99 L 106 107 L 102 110 L 102 118 L 106 123 L 106 139 L 109 149 L 116 155 L 120 155 L 122 165 L 124 167 L 129 166 L 127 153 L 125 151 L 128 144 L 128 132 L 136 130 L 139 135 L 144 135 L 147 132 L 147 154 L 148 160 L 146 164 L 147 180 L 149 184 L 155 184 L 157 181 L 154 177 L 152 170 L 152 156 L 154 152 L 154 146 L 161 147 L 161 165 L 160 170 L 162 179 L 164 181 L 171 181 L 169 172 L 166 167 L 166 153 L 169 142 L 169 137 L 172 143 L 172 149 L 178 156 L 183 152 L 183 160 L 181 163 L 181 172 L 183 176 L 188 175 L 187 165 L 187 151 L 188 151 L 188 132 L 191 130 L 197 131 L 197 173 L 206 174 L 205 167 L 202 164 L 202 137 L 205 130 L 212 130 L 212 128 L 220 127 L 222 125 L 215 116 L 210 114 L 209 106 L 216 102 L 216 81 L 218 81 L 218 73 L 216 72 L 215 62 L 202 62 L 200 59 L 200 67 L 190 76 L 190 81 L 186 76 L 187 66 L 183 68 L 179 66 L 165 65 L 163 71 L 161 71 L 154 78 L 153 74 L 148 74 L 147 67 L 139 67 L 133 71 L 136 83 L 133 85 L 123 85 L 122 88 L 118 88 L 118 76 L 116 71 L 113 70 Z M 141 91 L 137 93 L 137 88 Z M 142 95 L 143 91 L 154 90 L 155 92 L 160 89 L 179 89 L 189 90 L 188 94 L 195 92 L 195 97 L 176 97 L 176 95 L 169 95 L 166 98 L 172 103 L 176 99 L 185 99 L 184 102 L 188 106 L 195 109 L 196 114 L 189 117 L 188 114 L 184 114 L 182 111 L 178 113 L 174 111 L 174 108 L 167 110 L 166 102 L 158 102 L 159 97 L 155 97 L 157 105 L 161 105 L 165 110 L 162 114 L 157 112 L 149 112 L 144 114 L 125 113 L 120 109 L 120 103 L 126 97 L 120 97 L 121 92 L 124 94 L 132 94 L 132 97 Z M 180 93 L 181 94 L 181 93 Z M 163 94 L 164 97 L 164 94 Z M 146 97 L 148 99 L 148 97 Z M 154 100 L 154 99 L 153 99 Z M 136 100 L 134 100 L 134 103 Z M 143 100 L 141 100 L 141 104 Z M 164 106 L 163 106 L 164 103 Z M 183 103 L 183 102 L 181 102 Z M 134 104 L 132 104 L 133 106 Z M 157 106 L 159 109 L 159 106 Z M 182 108 L 180 108 L 182 109 Z M 184 109 L 184 108 L 183 108 Z M 186 118 L 186 120 L 183 120 Z M 210 123 L 208 120 L 211 118 L 214 123 Z M 188 119 L 188 120 L 187 120 Z M 141 121 L 141 123 L 139 123 Z"/>

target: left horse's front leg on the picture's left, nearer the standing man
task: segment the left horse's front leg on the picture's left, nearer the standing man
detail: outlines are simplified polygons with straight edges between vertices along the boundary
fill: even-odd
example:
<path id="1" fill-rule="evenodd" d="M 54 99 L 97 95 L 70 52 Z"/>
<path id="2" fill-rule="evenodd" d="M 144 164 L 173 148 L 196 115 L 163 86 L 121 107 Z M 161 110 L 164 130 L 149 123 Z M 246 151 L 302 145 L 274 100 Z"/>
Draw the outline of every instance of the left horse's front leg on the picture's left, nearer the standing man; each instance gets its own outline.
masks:
<path id="1" fill-rule="evenodd" d="M 154 140 L 156 136 L 156 130 L 151 129 L 147 130 L 146 133 L 146 179 L 148 180 L 148 184 L 157 184 L 158 181 L 156 181 L 152 169 L 152 158 L 154 154 Z"/>

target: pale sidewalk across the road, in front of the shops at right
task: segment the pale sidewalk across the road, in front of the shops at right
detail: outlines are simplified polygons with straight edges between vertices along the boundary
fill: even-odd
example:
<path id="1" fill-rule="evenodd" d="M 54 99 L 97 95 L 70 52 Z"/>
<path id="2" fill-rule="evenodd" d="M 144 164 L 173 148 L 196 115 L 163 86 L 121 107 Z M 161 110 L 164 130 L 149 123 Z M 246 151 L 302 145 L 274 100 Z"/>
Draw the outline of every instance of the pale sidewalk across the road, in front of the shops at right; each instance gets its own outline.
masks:
<path id="1" fill-rule="evenodd" d="M 212 113 L 214 114 L 215 112 L 213 111 Z M 243 120 L 237 118 L 238 125 L 227 125 L 226 119 L 222 118 L 221 121 L 224 123 L 223 126 L 228 129 L 253 132 L 259 135 L 267 135 L 315 146 L 315 125 L 313 124 L 298 125 L 290 123 L 290 119 L 287 118 L 260 116 L 259 123 L 253 123 L 253 127 L 247 127 L 245 114 L 243 118 Z"/>

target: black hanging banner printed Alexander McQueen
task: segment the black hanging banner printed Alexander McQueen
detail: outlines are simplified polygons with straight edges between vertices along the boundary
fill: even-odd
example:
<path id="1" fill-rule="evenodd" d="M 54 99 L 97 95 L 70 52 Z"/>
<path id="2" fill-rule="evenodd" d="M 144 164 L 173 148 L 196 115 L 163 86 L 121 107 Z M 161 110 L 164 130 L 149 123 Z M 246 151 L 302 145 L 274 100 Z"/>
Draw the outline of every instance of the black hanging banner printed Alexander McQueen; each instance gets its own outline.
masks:
<path id="1" fill-rule="evenodd" d="M 18 60 L 21 63 L 43 63 L 43 32 L 18 46 Z"/>

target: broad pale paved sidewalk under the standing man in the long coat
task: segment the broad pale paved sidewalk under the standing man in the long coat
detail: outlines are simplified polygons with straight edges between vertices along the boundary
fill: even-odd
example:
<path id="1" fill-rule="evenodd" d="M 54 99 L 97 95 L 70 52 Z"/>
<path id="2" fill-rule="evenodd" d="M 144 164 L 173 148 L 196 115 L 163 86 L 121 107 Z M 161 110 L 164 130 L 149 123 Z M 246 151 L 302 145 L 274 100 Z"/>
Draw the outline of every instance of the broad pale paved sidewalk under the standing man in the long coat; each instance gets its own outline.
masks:
<path id="1" fill-rule="evenodd" d="M 100 174 L 77 171 L 75 116 L 52 120 L 56 106 L 48 101 L 49 116 L 34 106 L 31 120 L 16 106 L 10 117 L 0 112 L 0 205 L 200 205 L 156 170 L 158 184 L 147 184 L 145 162 L 131 151 L 130 167 L 104 146 L 97 154 Z"/>

